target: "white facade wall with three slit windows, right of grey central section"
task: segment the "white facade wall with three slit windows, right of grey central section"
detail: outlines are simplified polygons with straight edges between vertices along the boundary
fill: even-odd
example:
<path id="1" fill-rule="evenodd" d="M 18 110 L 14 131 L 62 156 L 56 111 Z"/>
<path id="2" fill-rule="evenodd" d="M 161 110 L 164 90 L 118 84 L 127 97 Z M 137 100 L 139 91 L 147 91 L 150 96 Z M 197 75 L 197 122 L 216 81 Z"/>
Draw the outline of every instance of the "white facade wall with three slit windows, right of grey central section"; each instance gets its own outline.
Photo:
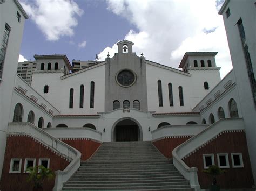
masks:
<path id="1" fill-rule="evenodd" d="M 190 74 L 146 65 L 148 110 L 156 112 L 191 112 L 199 101 L 220 81 L 219 69 L 190 70 Z M 157 81 L 161 80 L 163 107 L 158 104 Z M 210 90 L 204 89 L 207 81 Z M 168 83 L 172 83 L 173 103 L 169 104 Z M 178 87 L 183 87 L 184 106 L 180 106 Z"/>

